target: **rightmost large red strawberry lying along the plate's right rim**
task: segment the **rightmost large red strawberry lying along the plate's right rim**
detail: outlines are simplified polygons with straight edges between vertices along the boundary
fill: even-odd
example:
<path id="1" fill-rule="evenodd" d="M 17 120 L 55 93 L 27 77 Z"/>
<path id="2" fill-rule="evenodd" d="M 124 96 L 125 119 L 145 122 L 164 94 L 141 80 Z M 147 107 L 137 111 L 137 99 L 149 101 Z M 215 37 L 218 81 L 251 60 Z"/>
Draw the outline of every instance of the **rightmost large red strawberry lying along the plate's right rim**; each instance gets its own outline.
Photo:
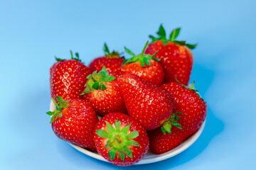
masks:
<path id="1" fill-rule="evenodd" d="M 186 138 L 193 135 L 206 119 L 206 102 L 196 93 L 193 85 L 190 89 L 176 82 L 161 86 L 169 91 L 174 98 L 174 112 L 183 113 L 178 118 L 182 130 L 174 127 L 171 133 L 166 133 L 157 128 L 149 131 L 150 149 L 155 154 L 168 152 L 178 146 Z M 163 132 L 162 132 L 163 131 Z"/>

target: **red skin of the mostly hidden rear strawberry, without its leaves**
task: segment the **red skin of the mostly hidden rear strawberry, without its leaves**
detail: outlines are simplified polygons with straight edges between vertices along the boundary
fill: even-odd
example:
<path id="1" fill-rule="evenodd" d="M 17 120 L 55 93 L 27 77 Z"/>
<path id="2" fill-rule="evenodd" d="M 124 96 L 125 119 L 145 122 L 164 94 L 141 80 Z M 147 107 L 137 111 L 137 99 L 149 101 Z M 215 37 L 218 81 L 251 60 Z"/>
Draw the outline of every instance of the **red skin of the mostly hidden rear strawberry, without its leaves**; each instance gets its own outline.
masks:
<path id="1" fill-rule="evenodd" d="M 121 65 L 124 62 L 123 58 L 112 58 L 112 57 L 98 57 L 95 60 L 92 60 L 89 67 L 92 69 L 92 72 L 102 69 L 102 66 L 105 66 L 108 72 L 114 72 L 118 76 L 122 74 Z"/>

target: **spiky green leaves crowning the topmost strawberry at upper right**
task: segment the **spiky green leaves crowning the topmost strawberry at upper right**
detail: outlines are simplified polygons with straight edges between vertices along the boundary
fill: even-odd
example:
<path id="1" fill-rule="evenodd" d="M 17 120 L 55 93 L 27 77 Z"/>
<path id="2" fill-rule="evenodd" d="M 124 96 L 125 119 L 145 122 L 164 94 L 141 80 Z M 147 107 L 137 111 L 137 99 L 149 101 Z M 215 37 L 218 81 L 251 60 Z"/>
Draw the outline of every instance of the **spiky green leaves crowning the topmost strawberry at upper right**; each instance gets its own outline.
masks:
<path id="1" fill-rule="evenodd" d="M 149 38 L 152 39 L 152 42 L 156 42 L 157 40 L 161 40 L 161 42 L 163 43 L 163 45 L 167 45 L 169 42 L 174 42 L 178 45 L 185 45 L 186 47 L 190 48 L 190 49 L 194 49 L 196 47 L 197 44 L 188 44 L 186 43 L 186 41 L 179 41 L 176 40 L 176 38 L 178 37 L 178 34 L 180 33 L 181 28 L 176 28 L 174 29 L 171 34 L 169 39 L 166 38 L 166 31 L 164 30 L 164 27 L 162 26 L 162 24 L 159 27 L 159 31 L 157 31 L 157 35 L 159 35 L 159 37 L 154 37 L 153 35 L 149 35 Z"/>

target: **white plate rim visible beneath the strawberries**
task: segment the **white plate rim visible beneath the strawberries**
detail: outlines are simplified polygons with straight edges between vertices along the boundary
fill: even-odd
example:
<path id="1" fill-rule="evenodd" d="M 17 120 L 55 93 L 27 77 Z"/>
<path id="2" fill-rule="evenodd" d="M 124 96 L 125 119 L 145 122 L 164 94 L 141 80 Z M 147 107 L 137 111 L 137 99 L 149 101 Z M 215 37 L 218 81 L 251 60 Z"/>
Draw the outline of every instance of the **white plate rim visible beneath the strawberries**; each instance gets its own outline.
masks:
<path id="1" fill-rule="evenodd" d="M 55 105 L 53 103 L 53 101 L 50 102 L 50 111 L 54 111 L 55 110 Z M 164 154 L 153 154 L 150 151 L 145 155 L 145 157 L 138 162 L 137 164 L 150 164 L 150 163 L 154 163 L 154 162 L 159 162 L 162 161 L 164 159 L 168 159 L 170 157 L 174 157 L 176 154 L 179 154 L 181 152 L 183 152 L 184 150 L 186 150 L 188 147 L 190 147 L 194 142 L 196 142 L 196 140 L 198 139 L 198 137 L 201 135 L 201 133 L 203 132 L 203 128 L 206 125 L 206 120 L 203 122 L 203 125 L 201 125 L 201 128 L 191 137 L 188 137 L 188 139 L 184 140 L 181 145 L 178 145 L 178 147 L 170 150 L 169 152 L 166 152 Z M 89 151 L 85 148 L 82 147 L 78 147 L 77 145 L 73 145 L 70 144 L 72 147 L 74 147 L 75 149 L 78 149 L 78 151 L 87 154 L 90 157 L 93 157 L 95 159 L 99 159 L 103 162 L 107 162 L 107 160 L 105 158 L 103 158 L 102 156 L 100 156 L 100 154 L 98 154 L 97 152 L 92 152 Z M 135 164 L 135 165 L 137 165 Z"/>

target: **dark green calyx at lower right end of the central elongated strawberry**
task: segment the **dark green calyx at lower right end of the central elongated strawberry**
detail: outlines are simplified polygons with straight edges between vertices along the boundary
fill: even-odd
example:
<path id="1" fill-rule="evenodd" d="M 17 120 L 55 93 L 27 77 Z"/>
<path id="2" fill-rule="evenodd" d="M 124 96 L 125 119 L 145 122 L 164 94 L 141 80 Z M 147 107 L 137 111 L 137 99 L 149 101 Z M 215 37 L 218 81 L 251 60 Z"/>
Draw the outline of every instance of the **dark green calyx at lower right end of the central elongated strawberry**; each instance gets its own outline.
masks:
<path id="1" fill-rule="evenodd" d="M 169 120 L 166 120 L 161 126 L 161 131 L 164 133 L 164 135 L 166 135 L 166 132 L 168 132 L 169 134 L 171 133 L 172 126 L 175 126 L 176 128 L 182 130 L 181 125 L 177 122 L 181 117 L 179 117 L 176 114 L 183 114 L 183 113 L 181 112 L 171 113 L 171 117 L 169 118 Z"/>

